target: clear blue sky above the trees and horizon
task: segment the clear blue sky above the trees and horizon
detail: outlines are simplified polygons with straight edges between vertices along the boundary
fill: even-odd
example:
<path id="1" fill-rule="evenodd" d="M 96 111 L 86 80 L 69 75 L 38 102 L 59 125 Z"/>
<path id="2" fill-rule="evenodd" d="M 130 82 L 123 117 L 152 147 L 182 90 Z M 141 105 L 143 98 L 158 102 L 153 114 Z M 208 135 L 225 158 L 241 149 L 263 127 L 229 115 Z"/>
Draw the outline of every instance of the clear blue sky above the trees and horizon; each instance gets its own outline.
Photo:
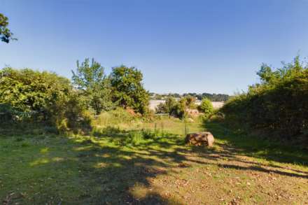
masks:
<path id="1" fill-rule="evenodd" d="M 0 0 L 18 38 L 0 67 L 71 78 L 76 60 L 137 66 L 151 92 L 232 94 L 266 62 L 308 56 L 307 0 Z"/>

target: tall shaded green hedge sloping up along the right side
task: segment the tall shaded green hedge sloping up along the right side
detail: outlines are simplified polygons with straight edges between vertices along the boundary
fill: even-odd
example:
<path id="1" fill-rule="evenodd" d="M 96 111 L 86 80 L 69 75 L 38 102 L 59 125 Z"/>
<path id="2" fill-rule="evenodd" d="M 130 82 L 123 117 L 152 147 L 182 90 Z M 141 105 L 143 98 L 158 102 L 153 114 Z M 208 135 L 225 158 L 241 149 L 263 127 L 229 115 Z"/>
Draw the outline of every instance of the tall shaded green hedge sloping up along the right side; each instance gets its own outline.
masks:
<path id="1" fill-rule="evenodd" d="M 267 136 L 308 142 L 307 65 L 299 57 L 276 70 L 263 64 L 258 76 L 260 83 L 223 106 L 226 122 Z"/>

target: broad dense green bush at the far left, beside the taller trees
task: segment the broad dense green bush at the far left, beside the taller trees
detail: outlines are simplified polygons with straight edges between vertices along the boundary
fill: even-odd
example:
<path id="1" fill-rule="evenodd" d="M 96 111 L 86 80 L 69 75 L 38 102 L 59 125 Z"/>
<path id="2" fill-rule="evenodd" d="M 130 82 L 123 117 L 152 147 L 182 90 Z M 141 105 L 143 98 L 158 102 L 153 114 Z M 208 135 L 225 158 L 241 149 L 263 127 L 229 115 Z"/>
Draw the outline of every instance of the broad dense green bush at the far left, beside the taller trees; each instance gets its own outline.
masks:
<path id="1" fill-rule="evenodd" d="M 31 69 L 0 71 L 0 110 L 10 120 L 4 122 L 42 122 L 62 131 L 89 121 L 68 79 Z"/>

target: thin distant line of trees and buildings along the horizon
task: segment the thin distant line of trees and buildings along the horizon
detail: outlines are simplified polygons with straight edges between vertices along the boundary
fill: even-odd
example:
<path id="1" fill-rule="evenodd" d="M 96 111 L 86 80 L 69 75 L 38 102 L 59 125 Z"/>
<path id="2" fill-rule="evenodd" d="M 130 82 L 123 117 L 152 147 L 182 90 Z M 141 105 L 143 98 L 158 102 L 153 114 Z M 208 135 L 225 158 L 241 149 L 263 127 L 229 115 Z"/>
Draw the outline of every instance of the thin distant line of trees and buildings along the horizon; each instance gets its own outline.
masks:
<path id="1" fill-rule="evenodd" d="M 199 100 L 202 100 L 204 98 L 207 98 L 211 101 L 228 101 L 230 96 L 228 94 L 211 94 L 204 92 L 202 94 L 197 94 L 195 92 L 189 92 L 184 94 L 178 94 L 178 93 L 169 93 L 169 94 L 155 94 L 154 92 L 151 92 L 151 99 L 167 99 L 168 97 L 175 97 L 175 98 L 181 98 L 181 97 L 187 97 L 192 96 Z"/>

